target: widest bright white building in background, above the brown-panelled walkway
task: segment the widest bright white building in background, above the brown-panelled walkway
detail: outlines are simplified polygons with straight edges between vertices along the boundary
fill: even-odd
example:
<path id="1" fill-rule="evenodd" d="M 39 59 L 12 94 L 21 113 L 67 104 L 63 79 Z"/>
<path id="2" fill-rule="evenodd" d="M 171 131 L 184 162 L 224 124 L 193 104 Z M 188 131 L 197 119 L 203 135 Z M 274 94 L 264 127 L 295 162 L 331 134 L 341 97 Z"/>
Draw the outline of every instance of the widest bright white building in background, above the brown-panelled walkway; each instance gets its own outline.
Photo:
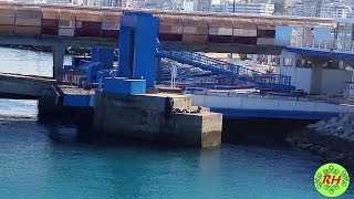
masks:
<path id="1" fill-rule="evenodd" d="M 235 9 L 235 10 L 233 10 Z M 274 12 L 273 3 L 244 3 L 244 2 L 228 2 L 227 4 L 212 4 L 212 12 L 233 12 L 249 14 L 266 14 L 270 15 Z"/>

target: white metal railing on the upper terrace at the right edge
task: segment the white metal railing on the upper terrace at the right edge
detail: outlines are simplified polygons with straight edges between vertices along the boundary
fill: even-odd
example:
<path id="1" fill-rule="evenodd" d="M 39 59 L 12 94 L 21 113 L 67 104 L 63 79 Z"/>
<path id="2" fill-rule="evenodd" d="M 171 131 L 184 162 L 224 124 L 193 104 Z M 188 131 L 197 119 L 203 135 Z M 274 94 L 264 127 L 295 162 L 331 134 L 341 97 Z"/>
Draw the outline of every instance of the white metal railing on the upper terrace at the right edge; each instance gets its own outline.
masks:
<path id="1" fill-rule="evenodd" d="M 354 41 L 309 40 L 303 38 L 295 38 L 292 41 L 291 46 L 354 52 Z"/>

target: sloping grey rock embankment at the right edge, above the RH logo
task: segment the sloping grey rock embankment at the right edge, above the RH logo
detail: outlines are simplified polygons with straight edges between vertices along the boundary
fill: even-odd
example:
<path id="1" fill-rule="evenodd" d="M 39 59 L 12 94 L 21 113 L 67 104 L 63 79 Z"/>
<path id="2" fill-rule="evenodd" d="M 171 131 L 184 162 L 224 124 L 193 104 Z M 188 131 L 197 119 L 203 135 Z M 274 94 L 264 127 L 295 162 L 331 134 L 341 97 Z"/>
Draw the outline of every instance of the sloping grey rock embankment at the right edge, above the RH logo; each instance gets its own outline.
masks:
<path id="1" fill-rule="evenodd" d="M 308 125 L 291 133 L 287 142 L 323 157 L 326 161 L 354 164 L 354 114 L 341 114 L 330 121 Z"/>

